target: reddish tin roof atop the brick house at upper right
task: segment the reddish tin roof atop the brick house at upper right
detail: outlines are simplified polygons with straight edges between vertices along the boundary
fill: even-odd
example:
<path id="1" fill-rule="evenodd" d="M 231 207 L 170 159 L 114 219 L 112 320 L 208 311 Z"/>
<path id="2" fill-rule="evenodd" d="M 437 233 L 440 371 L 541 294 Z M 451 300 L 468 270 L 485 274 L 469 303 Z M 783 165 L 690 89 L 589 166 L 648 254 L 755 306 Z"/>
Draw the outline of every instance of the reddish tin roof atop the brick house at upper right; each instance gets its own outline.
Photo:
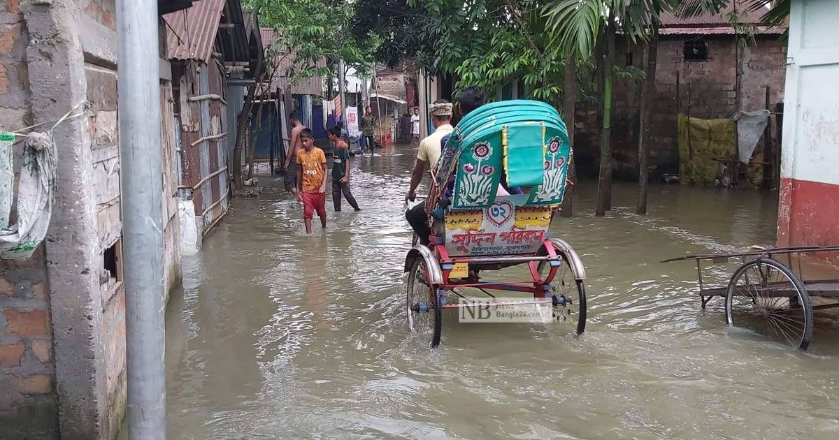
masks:
<path id="1" fill-rule="evenodd" d="M 763 18 L 763 12 L 753 11 L 744 4 L 743 0 L 739 2 L 729 2 L 724 6 L 719 13 L 698 15 L 696 17 L 682 18 L 674 14 L 664 13 L 661 16 L 661 28 L 659 32 L 664 35 L 673 34 L 734 34 L 734 28 L 728 22 L 728 17 L 732 13 L 737 13 L 738 21 L 743 24 L 760 24 Z M 736 7 L 736 8 L 735 8 Z M 766 9 L 769 12 L 769 9 Z M 766 26 L 758 26 L 758 34 L 783 34 L 784 29 L 768 28 Z"/>

